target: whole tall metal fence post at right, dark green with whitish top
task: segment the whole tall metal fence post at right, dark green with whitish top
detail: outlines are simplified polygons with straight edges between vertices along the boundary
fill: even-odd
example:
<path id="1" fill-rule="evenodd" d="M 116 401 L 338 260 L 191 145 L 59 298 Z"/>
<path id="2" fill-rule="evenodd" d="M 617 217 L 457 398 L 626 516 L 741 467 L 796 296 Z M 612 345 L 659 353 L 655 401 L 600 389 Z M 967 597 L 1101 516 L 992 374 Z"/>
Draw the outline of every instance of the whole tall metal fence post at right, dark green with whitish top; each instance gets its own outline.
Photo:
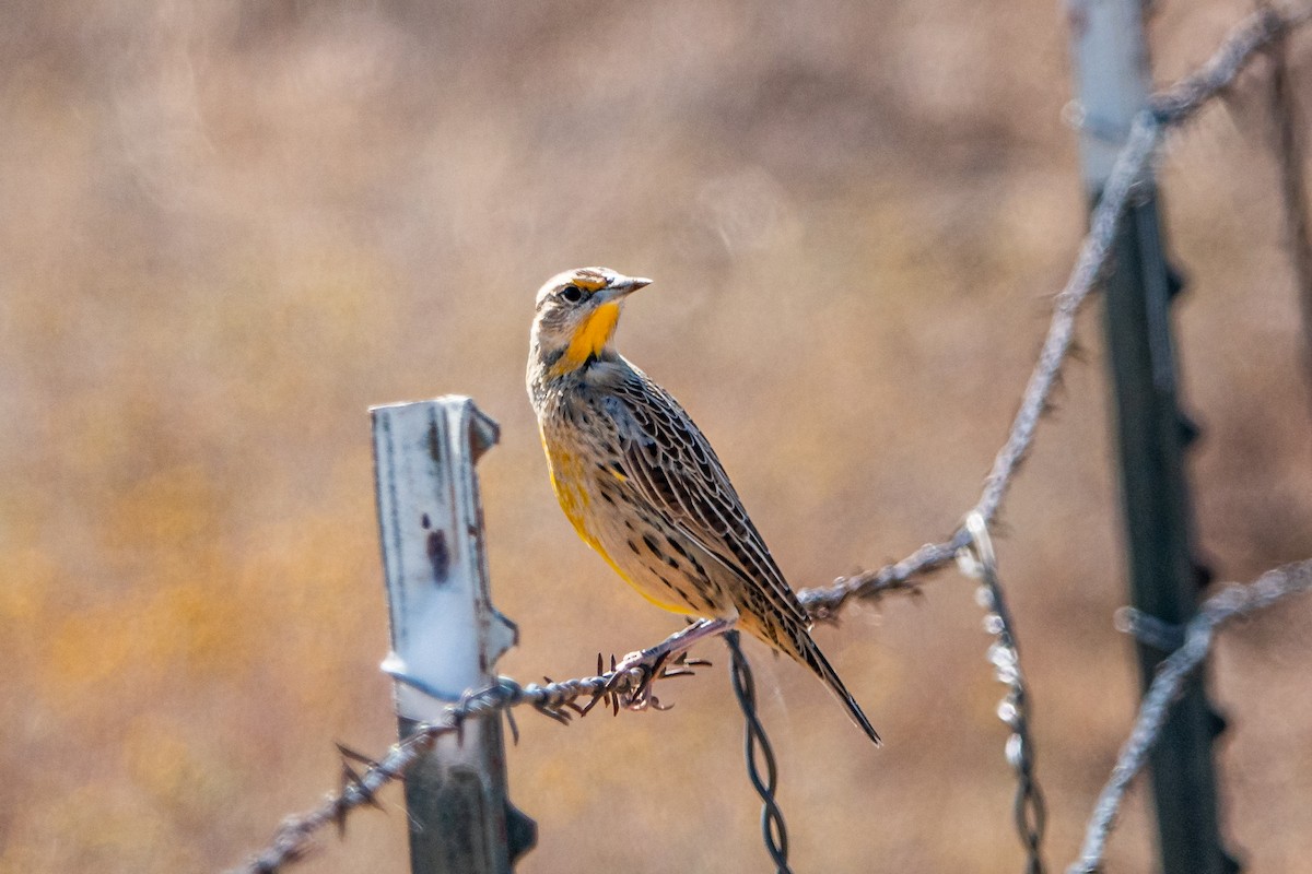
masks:
<path id="1" fill-rule="evenodd" d="M 1149 106 L 1143 0 L 1073 0 L 1072 50 L 1080 101 L 1080 156 L 1092 202 L 1102 194 L 1134 117 Z M 1166 265 L 1156 189 L 1127 208 L 1113 250 L 1106 295 L 1107 352 L 1115 394 L 1120 493 L 1135 607 L 1182 626 L 1197 612 L 1206 571 L 1194 561 L 1183 449 L 1194 428 L 1181 415 L 1170 337 L 1170 297 L 1179 280 Z M 1166 653 L 1139 642 L 1144 688 Z M 1161 870 L 1223 874 L 1211 746 L 1220 718 L 1200 675 L 1166 722 L 1151 755 Z"/>

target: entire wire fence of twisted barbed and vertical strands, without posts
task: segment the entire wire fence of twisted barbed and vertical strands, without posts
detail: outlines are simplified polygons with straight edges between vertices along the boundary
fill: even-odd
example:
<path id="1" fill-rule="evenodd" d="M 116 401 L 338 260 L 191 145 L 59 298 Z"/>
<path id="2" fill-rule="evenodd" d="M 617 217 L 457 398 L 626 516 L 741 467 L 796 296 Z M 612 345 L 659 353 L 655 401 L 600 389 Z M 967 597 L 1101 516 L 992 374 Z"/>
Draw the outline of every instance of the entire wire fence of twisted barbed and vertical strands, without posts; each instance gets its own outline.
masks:
<path id="1" fill-rule="evenodd" d="M 1312 10 L 1308 9 L 1287 13 L 1265 8 L 1252 14 L 1235 28 L 1198 71 L 1156 96 L 1151 109 L 1135 119 L 1128 140 L 1103 187 L 1102 198 L 1094 208 L 1090 229 L 1080 246 L 1071 276 L 1056 295 L 1047 335 L 1006 442 L 997 452 L 980 498 L 964 515 L 962 527 L 947 540 L 926 544 L 901 561 L 878 570 L 838 578 L 830 586 L 798 592 L 813 620 L 832 621 L 849 600 L 872 600 L 891 592 L 913 592 L 921 578 L 953 561 L 956 561 L 967 575 L 980 579 L 980 601 L 987 611 L 985 628 L 994 637 L 988 651 L 989 662 L 998 680 L 1008 687 L 1006 697 L 998 706 L 998 715 L 1012 730 L 1005 744 L 1005 756 L 1017 776 L 1014 819 L 1026 850 L 1026 870 L 1030 874 L 1042 874 L 1044 870 L 1040 844 L 1046 814 L 1035 777 L 1035 750 L 1029 731 L 1031 701 L 1021 670 L 1014 622 L 1006 608 L 989 527 L 997 516 L 1012 478 L 1034 442 L 1052 387 L 1071 351 L 1080 307 L 1097 287 L 1107 266 L 1122 216 L 1132 203 L 1165 132 L 1186 122 L 1223 93 L 1260 51 L 1283 51 L 1281 46 L 1283 38 L 1292 29 L 1305 24 L 1309 17 Z M 1274 71 L 1273 104 L 1287 106 L 1288 83 L 1279 55 L 1275 58 Z M 1279 127 L 1277 145 L 1281 151 L 1286 215 L 1292 228 L 1291 237 L 1295 238 L 1295 259 L 1302 261 L 1307 258 L 1304 218 L 1307 203 L 1298 162 L 1296 128 Z M 1303 271 L 1304 266 L 1296 265 L 1295 270 Z M 1304 299 L 1309 301 L 1308 312 L 1312 313 L 1312 291 L 1308 291 L 1307 274 L 1296 273 L 1296 276 Z M 1308 314 L 1308 325 L 1312 326 L 1312 314 Z M 1067 869 L 1068 874 L 1092 873 L 1101 865 L 1126 789 L 1143 768 L 1182 683 L 1206 658 L 1216 629 L 1236 616 L 1266 608 L 1308 588 L 1312 588 L 1312 560 L 1267 571 L 1249 584 L 1223 587 L 1202 604 L 1198 615 L 1183 629 L 1164 626 L 1134 611 L 1122 611 L 1120 625 L 1124 630 L 1174 651 L 1162 663 L 1160 674 L 1141 701 L 1130 739 L 1120 751 L 1111 778 L 1102 790 L 1088 823 L 1080 858 Z M 748 774 L 764 805 L 762 835 L 777 871 L 789 871 L 787 832 L 774 798 L 778 772 L 769 739 L 756 717 L 750 667 L 737 646 L 736 634 L 733 637 L 729 634 L 726 636 L 726 641 L 731 653 L 731 679 L 747 722 Z M 445 709 L 441 719 L 421 726 L 409 738 L 394 744 L 378 760 L 342 748 L 344 765 L 338 791 L 329 794 L 319 807 L 285 819 L 268 846 L 232 870 L 268 874 L 300 860 L 319 831 L 332 824 L 338 829 L 344 828 L 353 810 L 361 806 L 377 806 L 377 794 L 383 786 L 401 778 L 405 770 L 432 748 L 437 738 L 449 734 L 462 735 L 468 719 L 504 713 L 510 732 L 517 739 L 518 726 L 510 712 L 520 706 L 531 706 L 538 713 L 563 723 L 586 715 L 598 704 L 614 714 L 622 709 L 663 709 L 653 694 L 653 687 L 668 679 L 689 676 L 695 668 L 706 664 L 708 663 L 705 660 L 689 658 L 686 651 L 676 651 L 659 659 L 626 663 L 619 670 L 611 659 L 607 671 L 604 670 L 605 663 L 598 655 L 597 674 L 593 676 L 564 681 L 547 679 L 542 684 L 525 685 L 509 677 L 499 677 L 487 688 L 468 691 L 461 701 Z M 357 772 L 346 760 L 358 763 L 363 768 Z"/>

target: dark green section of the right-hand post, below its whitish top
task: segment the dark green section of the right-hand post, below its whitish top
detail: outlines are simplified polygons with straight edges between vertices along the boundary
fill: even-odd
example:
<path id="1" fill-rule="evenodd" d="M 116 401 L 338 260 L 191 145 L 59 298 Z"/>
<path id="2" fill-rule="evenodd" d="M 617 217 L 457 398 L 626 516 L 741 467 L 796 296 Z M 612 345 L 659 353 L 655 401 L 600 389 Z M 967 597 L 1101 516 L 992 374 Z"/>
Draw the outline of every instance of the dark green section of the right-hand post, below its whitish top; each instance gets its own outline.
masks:
<path id="1" fill-rule="evenodd" d="M 1115 392 L 1117 446 L 1130 588 L 1136 608 L 1170 625 L 1197 612 L 1206 571 L 1194 561 L 1183 449 L 1193 435 L 1176 404 L 1170 338 L 1172 276 L 1156 198 L 1131 207 L 1105 284 L 1106 335 Z M 1168 654 L 1136 645 L 1143 687 Z M 1221 729 L 1202 674 L 1185 685 L 1149 757 L 1161 870 L 1227 874 L 1218 823 L 1212 740 Z"/>

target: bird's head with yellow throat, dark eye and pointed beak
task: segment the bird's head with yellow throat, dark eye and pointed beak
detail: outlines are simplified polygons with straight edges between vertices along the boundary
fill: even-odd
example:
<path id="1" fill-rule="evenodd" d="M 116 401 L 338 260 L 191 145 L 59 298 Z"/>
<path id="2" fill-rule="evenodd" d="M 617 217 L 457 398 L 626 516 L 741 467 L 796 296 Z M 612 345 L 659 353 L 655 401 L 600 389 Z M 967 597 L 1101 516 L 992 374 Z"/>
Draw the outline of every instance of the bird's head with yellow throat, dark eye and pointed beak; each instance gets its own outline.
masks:
<path id="1" fill-rule="evenodd" d="M 567 270 L 538 291 L 530 371 L 554 379 L 613 354 L 625 297 L 651 284 L 606 267 Z"/>

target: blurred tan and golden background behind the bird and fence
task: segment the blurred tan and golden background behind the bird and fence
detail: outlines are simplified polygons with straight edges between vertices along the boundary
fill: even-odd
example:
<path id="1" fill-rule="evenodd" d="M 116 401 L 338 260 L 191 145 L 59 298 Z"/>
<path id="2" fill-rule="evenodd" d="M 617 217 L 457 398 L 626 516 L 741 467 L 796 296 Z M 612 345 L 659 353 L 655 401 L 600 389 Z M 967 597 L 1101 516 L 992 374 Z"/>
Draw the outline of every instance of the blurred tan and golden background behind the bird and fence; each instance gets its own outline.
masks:
<path id="1" fill-rule="evenodd" d="M 1158 3 L 1160 81 L 1249 10 Z M 472 394 L 522 680 L 677 628 L 573 536 L 522 388 L 531 299 L 653 276 L 621 347 L 698 418 L 795 586 L 970 506 L 1084 228 L 1061 5 L 211 0 L 0 12 L 0 871 L 240 862 L 394 739 L 366 408 Z M 1304 118 L 1308 42 L 1294 42 Z M 1261 68 L 1261 64 L 1258 66 Z M 1312 556 L 1312 421 L 1262 77 L 1161 161 L 1200 544 Z M 1138 689 L 1097 305 L 1000 542 L 1047 850 L 1075 854 Z M 752 645 L 803 871 L 1014 871 L 972 583 L 821 645 L 887 746 Z M 669 713 L 521 717 L 526 873 L 760 871 L 720 647 Z M 1224 818 L 1312 854 L 1312 607 L 1225 633 Z M 401 871 L 405 814 L 304 870 Z M 1109 870 L 1149 870 L 1143 788 Z"/>

